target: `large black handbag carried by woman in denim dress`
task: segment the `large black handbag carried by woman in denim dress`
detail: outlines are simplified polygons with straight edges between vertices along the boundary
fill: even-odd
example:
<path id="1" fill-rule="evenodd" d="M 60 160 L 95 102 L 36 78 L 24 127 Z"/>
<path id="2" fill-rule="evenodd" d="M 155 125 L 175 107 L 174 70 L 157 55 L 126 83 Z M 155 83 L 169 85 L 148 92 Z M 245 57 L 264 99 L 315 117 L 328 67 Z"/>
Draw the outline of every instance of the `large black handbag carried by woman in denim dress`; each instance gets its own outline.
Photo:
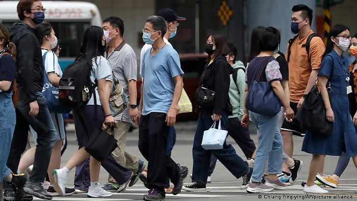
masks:
<path id="1" fill-rule="evenodd" d="M 328 137 L 332 134 L 333 122 L 326 119 L 325 105 L 316 85 L 308 93 L 294 118 L 302 129 L 311 131 L 312 134 L 321 137 Z"/>

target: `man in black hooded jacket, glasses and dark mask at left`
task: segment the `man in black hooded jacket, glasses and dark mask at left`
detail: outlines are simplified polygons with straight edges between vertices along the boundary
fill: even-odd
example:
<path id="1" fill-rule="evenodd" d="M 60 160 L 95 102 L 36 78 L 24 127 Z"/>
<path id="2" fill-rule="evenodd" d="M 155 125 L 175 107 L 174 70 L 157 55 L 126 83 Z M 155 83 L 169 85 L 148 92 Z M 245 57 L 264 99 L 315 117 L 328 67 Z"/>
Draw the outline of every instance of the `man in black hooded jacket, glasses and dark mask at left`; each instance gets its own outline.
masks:
<path id="1" fill-rule="evenodd" d="M 44 75 L 41 47 L 33 33 L 36 24 L 44 19 L 43 11 L 45 9 L 41 1 L 20 0 L 17 5 L 17 14 L 21 21 L 14 23 L 9 30 L 10 40 L 16 44 L 17 49 L 16 82 L 19 103 L 16 107 L 16 125 L 7 165 L 13 172 L 17 172 L 20 156 L 27 145 L 29 125 L 31 125 L 37 132 L 38 145 L 34 168 L 23 190 L 42 199 L 52 199 L 52 195 L 43 190 L 41 182 L 46 177 L 57 134 L 46 106 L 46 99 L 42 95 Z M 18 194 L 18 192 L 15 193 Z"/>

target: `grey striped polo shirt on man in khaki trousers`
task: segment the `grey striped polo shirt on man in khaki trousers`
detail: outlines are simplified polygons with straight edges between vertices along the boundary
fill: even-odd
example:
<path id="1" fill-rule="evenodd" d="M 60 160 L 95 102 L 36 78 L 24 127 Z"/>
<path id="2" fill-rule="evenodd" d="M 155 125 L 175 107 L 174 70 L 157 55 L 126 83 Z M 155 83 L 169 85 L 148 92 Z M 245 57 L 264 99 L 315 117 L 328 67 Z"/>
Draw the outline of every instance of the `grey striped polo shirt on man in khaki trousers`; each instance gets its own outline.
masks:
<path id="1" fill-rule="evenodd" d="M 108 60 L 112 66 L 115 77 L 119 80 L 121 86 L 123 87 L 123 92 L 126 98 L 129 98 L 129 81 L 136 81 L 138 79 L 138 67 L 133 48 L 129 44 L 125 43 L 120 50 L 117 47 L 108 56 Z M 121 114 L 114 118 L 116 120 L 132 122 L 129 115 L 129 107 L 127 107 Z"/>

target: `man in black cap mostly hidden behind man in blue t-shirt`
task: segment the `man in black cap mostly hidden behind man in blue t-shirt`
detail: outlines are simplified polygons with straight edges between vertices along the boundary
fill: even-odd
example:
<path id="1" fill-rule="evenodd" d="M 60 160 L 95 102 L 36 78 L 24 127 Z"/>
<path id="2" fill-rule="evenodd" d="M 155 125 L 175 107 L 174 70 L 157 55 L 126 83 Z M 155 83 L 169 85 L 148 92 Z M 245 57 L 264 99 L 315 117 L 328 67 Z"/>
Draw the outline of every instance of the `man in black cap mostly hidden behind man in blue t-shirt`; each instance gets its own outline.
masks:
<path id="1" fill-rule="evenodd" d="M 164 42 L 168 45 L 171 45 L 171 43 L 168 41 L 170 38 L 173 38 L 176 35 L 177 32 L 177 27 L 179 27 L 179 22 L 177 21 L 184 21 L 186 20 L 185 17 L 179 17 L 176 15 L 176 13 L 169 8 L 164 8 L 158 12 L 158 16 L 161 16 L 165 19 L 167 23 L 167 31 L 166 34 L 164 35 Z M 141 72 L 141 65 L 142 65 L 142 59 L 144 56 L 144 53 L 148 50 L 151 49 L 151 45 L 146 44 L 141 48 L 140 52 L 140 72 Z M 176 141 L 176 131 L 175 128 L 172 126 L 170 127 L 170 132 L 167 138 L 167 146 L 165 149 L 165 153 L 168 156 L 171 156 L 171 150 L 173 148 L 173 145 L 175 144 Z M 142 171 L 140 174 L 140 180 L 144 183 L 144 185 L 147 187 L 147 169 Z M 169 179 L 167 179 L 167 185 L 165 187 L 165 192 L 166 193 L 171 193 L 172 188 L 170 187 L 169 184 Z"/>

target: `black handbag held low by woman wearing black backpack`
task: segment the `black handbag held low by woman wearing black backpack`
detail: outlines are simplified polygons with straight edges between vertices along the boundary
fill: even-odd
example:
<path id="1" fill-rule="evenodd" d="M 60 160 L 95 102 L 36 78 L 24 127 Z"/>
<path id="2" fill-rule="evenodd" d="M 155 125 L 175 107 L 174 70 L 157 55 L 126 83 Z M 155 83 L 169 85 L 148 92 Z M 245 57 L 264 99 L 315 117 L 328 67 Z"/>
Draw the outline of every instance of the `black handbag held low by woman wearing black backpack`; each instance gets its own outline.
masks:
<path id="1" fill-rule="evenodd" d="M 111 135 L 107 133 L 108 128 L 105 130 L 95 129 L 85 147 L 86 151 L 99 162 L 106 160 L 117 147 L 117 140 L 114 138 L 114 127 Z"/>

